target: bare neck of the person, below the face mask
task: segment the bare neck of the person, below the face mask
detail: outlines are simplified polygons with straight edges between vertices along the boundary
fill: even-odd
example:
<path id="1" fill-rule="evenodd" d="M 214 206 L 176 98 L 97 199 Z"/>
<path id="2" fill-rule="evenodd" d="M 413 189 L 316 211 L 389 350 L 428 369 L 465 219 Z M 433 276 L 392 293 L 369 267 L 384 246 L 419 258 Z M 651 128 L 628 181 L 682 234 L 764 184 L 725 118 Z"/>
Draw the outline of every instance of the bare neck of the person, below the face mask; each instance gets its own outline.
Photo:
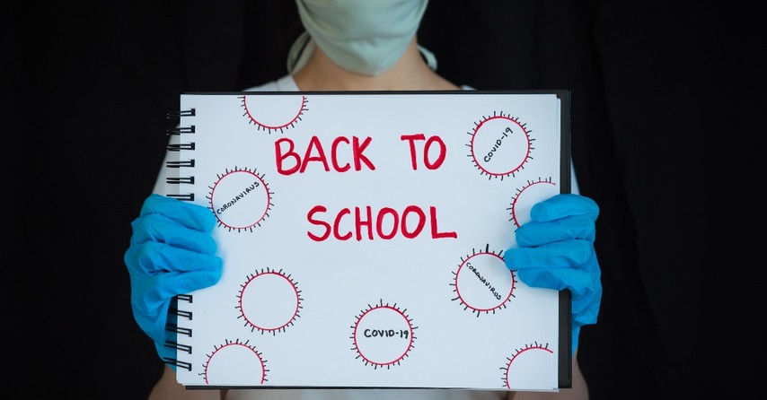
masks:
<path id="1" fill-rule="evenodd" d="M 315 46 L 312 56 L 293 75 L 301 91 L 444 91 L 457 90 L 428 67 L 421 57 L 416 38 L 397 64 L 383 74 L 368 76 L 336 65 Z"/>

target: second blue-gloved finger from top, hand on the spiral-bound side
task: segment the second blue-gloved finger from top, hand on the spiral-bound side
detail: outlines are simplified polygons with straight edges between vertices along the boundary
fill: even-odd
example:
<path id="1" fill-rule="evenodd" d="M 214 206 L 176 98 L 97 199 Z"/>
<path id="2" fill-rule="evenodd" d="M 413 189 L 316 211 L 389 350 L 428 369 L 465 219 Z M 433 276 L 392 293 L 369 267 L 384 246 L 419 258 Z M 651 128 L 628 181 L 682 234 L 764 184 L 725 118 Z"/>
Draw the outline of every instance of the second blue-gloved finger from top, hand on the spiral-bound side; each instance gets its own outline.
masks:
<path id="1" fill-rule="evenodd" d="M 161 214 L 145 215 L 131 225 L 133 226 L 133 235 L 130 237 L 132 245 L 154 241 L 199 253 L 216 252 L 216 240 L 210 236 L 210 233 L 187 228 Z"/>

